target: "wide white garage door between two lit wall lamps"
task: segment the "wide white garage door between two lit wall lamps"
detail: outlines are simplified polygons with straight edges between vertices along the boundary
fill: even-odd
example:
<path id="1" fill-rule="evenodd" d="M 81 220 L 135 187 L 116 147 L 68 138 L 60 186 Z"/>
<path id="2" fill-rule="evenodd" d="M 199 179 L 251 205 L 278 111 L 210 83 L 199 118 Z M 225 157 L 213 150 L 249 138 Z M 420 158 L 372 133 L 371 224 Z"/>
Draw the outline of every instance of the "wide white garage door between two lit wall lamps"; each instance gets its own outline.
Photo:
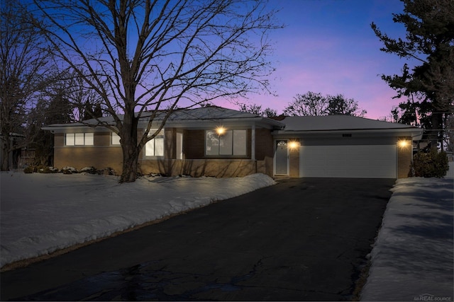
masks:
<path id="1" fill-rule="evenodd" d="M 396 178 L 395 145 L 301 146 L 301 178 Z"/>

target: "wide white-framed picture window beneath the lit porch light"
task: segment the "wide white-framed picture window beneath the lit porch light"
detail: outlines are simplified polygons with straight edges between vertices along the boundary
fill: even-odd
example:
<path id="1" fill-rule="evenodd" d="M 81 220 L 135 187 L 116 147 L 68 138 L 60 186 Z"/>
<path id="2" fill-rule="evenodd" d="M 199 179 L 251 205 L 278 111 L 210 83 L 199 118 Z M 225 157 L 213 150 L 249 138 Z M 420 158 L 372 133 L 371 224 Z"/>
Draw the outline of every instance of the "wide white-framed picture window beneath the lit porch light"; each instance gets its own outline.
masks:
<path id="1" fill-rule="evenodd" d="M 209 151 L 209 135 L 211 134 L 210 139 L 216 141 L 217 137 L 217 144 L 213 144 L 211 146 L 217 146 L 217 152 L 213 153 L 213 151 Z M 238 141 L 236 141 L 236 137 L 238 135 L 242 135 L 244 139 L 241 140 L 240 144 L 238 145 Z M 227 145 L 224 149 L 221 149 L 221 139 L 228 139 L 228 141 L 224 141 Z M 227 149 L 230 149 L 228 151 Z M 217 134 L 216 130 L 205 130 L 205 156 L 226 156 L 226 157 L 234 157 L 234 156 L 248 156 L 248 131 L 246 129 L 230 129 L 226 130 L 225 134 Z"/>

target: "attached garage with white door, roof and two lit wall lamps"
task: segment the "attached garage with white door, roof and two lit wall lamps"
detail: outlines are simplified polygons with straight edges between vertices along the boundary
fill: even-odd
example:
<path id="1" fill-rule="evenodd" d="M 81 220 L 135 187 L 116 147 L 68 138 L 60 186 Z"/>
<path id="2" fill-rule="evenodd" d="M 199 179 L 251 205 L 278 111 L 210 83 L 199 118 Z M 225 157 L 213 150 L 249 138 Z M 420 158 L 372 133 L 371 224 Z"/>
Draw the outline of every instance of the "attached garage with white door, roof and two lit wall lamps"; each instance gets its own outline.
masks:
<path id="1" fill-rule="evenodd" d="M 349 115 L 285 117 L 275 138 L 275 176 L 405 178 L 422 129 Z"/>

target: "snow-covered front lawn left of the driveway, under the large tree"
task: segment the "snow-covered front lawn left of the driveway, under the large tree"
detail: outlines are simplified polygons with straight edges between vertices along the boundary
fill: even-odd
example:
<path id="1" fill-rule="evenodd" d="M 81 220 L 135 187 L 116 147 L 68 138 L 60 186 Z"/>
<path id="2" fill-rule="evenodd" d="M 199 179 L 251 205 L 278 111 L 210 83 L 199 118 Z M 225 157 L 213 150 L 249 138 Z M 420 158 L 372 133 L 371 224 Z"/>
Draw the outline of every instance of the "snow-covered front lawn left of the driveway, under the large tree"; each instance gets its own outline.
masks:
<path id="1" fill-rule="evenodd" d="M 263 174 L 144 177 L 123 185 L 89 174 L 0 177 L 0 267 L 275 184 Z"/>

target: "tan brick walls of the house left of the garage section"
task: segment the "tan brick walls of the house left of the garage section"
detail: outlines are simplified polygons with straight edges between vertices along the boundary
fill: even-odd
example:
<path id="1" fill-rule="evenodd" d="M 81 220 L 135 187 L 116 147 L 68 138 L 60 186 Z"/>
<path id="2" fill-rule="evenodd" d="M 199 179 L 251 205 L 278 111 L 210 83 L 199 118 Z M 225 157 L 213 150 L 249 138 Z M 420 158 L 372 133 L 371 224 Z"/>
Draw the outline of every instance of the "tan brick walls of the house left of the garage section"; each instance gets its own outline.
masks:
<path id="1" fill-rule="evenodd" d="M 184 160 L 177 160 L 177 132 L 183 133 Z M 142 133 L 139 131 L 138 135 Z M 205 156 L 205 131 L 165 129 L 164 158 L 145 159 L 139 155 L 140 173 L 164 173 L 165 175 L 202 175 L 214 177 L 242 177 L 253 173 L 272 176 L 272 137 L 270 130 L 256 130 L 256 159 L 250 160 L 251 130 L 248 129 L 247 156 L 207 158 Z M 65 146 L 65 134 L 55 134 L 54 165 L 57 168 L 73 166 L 81 169 L 113 168 L 117 174 L 122 170 L 121 146 L 111 146 L 111 132 L 95 132 L 94 146 Z"/>

